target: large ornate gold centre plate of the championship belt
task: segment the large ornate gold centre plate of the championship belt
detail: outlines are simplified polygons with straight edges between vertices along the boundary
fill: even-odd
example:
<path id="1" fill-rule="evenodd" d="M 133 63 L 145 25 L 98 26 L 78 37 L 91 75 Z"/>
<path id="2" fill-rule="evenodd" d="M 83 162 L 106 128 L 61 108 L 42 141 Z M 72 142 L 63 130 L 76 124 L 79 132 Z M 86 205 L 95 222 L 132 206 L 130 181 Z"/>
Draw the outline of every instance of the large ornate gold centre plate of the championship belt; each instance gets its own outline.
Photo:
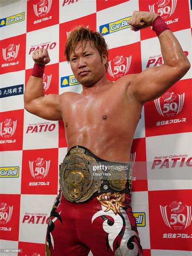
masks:
<path id="1" fill-rule="evenodd" d="M 103 183 L 102 175 L 93 179 L 93 171 L 89 162 L 98 165 L 96 159 L 87 156 L 85 149 L 76 147 L 70 150 L 60 169 L 60 188 L 64 197 L 70 202 L 83 202 L 89 199 L 94 192 L 100 192 Z"/>

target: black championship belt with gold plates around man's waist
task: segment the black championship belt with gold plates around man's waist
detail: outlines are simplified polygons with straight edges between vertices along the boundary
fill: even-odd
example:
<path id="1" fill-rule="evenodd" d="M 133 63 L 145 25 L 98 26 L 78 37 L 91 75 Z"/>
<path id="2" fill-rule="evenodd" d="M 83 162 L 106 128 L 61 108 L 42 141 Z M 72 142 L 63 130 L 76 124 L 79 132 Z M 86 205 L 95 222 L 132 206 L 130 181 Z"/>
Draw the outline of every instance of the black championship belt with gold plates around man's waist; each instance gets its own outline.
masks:
<path id="1" fill-rule="evenodd" d="M 92 166 L 98 166 L 99 161 L 104 161 L 94 156 L 85 147 L 73 147 L 63 160 L 60 169 L 60 188 L 64 197 L 73 203 L 88 201 L 94 196 L 106 192 L 129 193 L 130 179 L 126 171 L 110 170 L 107 179 L 102 170 L 93 171 Z M 109 161 L 105 161 L 110 163 Z M 115 166 L 121 164 L 115 164 Z"/>

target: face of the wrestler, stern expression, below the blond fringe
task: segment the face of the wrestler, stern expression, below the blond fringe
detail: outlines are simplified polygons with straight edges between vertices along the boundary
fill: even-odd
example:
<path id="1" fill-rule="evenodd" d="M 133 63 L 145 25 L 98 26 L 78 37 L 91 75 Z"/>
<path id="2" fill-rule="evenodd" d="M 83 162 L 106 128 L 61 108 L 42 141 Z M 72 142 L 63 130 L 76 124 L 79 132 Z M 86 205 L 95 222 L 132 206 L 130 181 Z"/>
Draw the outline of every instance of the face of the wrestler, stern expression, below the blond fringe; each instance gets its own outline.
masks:
<path id="1" fill-rule="evenodd" d="M 90 86 L 105 75 L 106 56 L 100 56 L 98 50 L 92 48 L 89 42 L 79 42 L 75 54 L 70 54 L 70 66 L 79 83 Z"/>

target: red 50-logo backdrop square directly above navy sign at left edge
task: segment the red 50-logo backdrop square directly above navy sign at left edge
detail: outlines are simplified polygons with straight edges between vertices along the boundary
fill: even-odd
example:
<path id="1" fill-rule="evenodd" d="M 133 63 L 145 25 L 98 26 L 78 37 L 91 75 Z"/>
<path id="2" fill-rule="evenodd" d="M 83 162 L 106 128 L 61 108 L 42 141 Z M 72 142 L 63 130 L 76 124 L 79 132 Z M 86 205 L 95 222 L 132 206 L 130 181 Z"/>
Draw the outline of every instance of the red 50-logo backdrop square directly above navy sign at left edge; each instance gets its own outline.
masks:
<path id="1" fill-rule="evenodd" d="M 1 40 L 0 74 L 23 70 L 26 67 L 26 34 Z"/>

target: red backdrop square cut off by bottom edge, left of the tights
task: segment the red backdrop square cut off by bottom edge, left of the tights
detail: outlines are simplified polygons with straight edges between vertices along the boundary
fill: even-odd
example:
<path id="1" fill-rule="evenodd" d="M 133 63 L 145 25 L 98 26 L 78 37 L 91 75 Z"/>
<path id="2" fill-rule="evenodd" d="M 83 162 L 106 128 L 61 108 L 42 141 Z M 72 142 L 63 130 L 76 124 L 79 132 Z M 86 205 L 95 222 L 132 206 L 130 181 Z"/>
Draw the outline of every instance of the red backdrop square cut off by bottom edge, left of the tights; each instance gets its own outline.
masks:
<path id="1" fill-rule="evenodd" d="M 19 253 L 19 256 L 38 256 L 45 255 L 45 244 L 42 243 L 27 243 L 19 242 L 18 249 L 22 249 L 22 252 Z"/>

